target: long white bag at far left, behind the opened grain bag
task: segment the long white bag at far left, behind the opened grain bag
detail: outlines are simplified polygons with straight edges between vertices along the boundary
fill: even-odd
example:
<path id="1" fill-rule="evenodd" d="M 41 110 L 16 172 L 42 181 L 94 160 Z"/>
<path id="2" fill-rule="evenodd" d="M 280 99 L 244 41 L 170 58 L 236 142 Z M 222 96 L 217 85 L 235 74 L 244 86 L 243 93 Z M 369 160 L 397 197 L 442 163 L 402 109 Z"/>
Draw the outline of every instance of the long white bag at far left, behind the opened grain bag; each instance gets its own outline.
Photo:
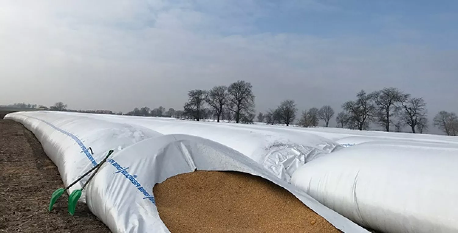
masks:
<path id="1" fill-rule="evenodd" d="M 33 132 L 59 169 L 65 186 L 97 165 L 110 149 L 121 151 L 136 142 L 162 135 L 141 126 L 104 122 L 75 114 L 62 117 L 60 114 L 24 112 L 8 114 L 5 119 L 16 120 Z M 73 185 L 68 192 L 81 189 L 87 178 Z M 84 200 L 84 195 L 81 199 Z"/>

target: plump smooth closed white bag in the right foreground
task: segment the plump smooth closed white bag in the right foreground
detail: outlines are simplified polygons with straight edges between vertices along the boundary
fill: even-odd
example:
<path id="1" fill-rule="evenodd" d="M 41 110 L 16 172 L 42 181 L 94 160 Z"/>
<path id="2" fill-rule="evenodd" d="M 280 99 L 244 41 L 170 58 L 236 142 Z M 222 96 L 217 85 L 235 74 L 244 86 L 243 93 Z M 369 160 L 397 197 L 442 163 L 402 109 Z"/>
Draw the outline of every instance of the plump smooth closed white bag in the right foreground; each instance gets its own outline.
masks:
<path id="1" fill-rule="evenodd" d="M 291 184 L 386 233 L 458 232 L 458 145 L 372 141 L 317 158 Z"/>

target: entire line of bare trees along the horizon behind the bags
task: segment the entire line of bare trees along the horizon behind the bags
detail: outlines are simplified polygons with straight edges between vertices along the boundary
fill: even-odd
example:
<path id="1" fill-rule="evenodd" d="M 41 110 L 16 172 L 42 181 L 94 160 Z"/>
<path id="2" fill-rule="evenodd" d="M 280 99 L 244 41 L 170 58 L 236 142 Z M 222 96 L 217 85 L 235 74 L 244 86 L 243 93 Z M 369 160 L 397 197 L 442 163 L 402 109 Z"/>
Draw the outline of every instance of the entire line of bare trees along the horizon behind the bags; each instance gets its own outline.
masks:
<path id="1" fill-rule="evenodd" d="M 250 82 L 236 81 L 227 86 L 216 86 L 211 90 L 191 90 L 184 110 L 166 109 L 162 106 L 134 108 L 128 115 L 175 117 L 187 119 L 234 120 L 236 123 L 252 123 L 255 118 L 255 96 Z M 65 111 L 67 105 L 58 102 L 50 110 Z M 422 98 L 412 97 L 395 87 L 367 93 L 361 90 L 356 99 L 342 104 L 343 111 L 336 116 L 337 126 L 341 128 L 368 130 L 371 123 L 381 126 L 385 131 L 401 131 L 409 126 L 412 133 L 423 133 L 428 129 L 426 103 Z M 310 108 L 296 116 L 298 109 L 294 100 L 284 100 L 275 109 L 259 113 L 257 120 L 266 124 L 297 125 L 315 127 L 323 120 L 326 127 L 335 112 L 329 105 Z M 458 115 L 441 111 L 433 119 L 433 126 L 447 135 L 458 135 Z"/>

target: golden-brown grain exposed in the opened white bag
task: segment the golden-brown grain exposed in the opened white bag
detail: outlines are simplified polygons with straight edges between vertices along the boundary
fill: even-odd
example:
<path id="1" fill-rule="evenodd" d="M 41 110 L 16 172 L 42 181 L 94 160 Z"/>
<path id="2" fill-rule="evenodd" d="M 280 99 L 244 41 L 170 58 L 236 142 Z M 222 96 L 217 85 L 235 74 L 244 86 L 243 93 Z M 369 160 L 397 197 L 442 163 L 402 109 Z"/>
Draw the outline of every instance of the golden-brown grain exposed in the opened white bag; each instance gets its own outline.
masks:
<path id="1" fill-rule="evenodd" d="M 338 233 L 282 187 L 248 173 L 195 171 L 153 188 L 172 233 Z"/>

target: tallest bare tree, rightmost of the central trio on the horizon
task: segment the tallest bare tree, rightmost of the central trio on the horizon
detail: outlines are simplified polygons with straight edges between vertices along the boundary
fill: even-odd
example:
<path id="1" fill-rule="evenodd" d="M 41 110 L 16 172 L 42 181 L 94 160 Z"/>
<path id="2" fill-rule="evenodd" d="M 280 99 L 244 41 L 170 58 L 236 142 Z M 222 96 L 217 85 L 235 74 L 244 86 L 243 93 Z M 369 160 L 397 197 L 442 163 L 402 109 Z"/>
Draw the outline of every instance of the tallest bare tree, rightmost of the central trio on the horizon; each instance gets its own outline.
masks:
<path id="1" fill-rule="evenodd" d="M 244 112 L 252 112 L 255 107 L 255 96 L 252 92 L 251 83 L 236 81 L 229 88 L 229 109 L 235 113 L 235 122 L 240 123 L 240 116 Z"/>

